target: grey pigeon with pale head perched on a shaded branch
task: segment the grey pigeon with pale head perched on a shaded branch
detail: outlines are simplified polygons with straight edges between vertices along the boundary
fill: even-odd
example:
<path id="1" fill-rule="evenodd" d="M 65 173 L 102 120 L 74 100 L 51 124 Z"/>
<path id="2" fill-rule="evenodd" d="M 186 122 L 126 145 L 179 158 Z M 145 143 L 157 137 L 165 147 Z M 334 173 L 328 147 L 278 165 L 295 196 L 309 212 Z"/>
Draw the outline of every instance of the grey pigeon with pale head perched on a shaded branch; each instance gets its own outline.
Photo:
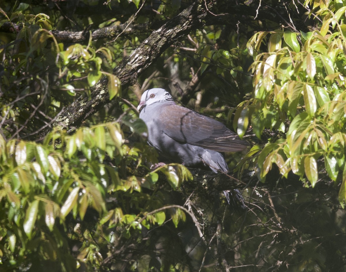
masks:
<path id="1" fill-rule="evenodd" d="M 202 164 L 215 173 L 227 173 L 228 166 L 221 152 L 243 151 L 249 146 L 221 122 L 176 105 L 165 89 L 146 90 L 137 109 L 148 128 L 148 143 L 168 163 L 188 167 Z M 240 191 L 234 191 L 245 208 Z M 228 203 L 229 193 L 224 191 Z"/>

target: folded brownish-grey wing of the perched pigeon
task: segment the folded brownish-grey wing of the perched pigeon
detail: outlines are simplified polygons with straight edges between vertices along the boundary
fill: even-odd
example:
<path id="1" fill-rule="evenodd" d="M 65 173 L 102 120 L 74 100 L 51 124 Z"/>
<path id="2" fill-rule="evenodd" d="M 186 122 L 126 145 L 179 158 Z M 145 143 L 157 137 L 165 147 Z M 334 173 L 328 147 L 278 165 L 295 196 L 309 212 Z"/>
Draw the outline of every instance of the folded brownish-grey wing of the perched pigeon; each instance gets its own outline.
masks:
<path id="1" fill-rule="evenodd" d="M 167 105 L 158 112 L 163 133 L 172 139 L 218 152 L 244 150 L 249 144 L 231 132 L 224 124 L 197 112 Z"/>

